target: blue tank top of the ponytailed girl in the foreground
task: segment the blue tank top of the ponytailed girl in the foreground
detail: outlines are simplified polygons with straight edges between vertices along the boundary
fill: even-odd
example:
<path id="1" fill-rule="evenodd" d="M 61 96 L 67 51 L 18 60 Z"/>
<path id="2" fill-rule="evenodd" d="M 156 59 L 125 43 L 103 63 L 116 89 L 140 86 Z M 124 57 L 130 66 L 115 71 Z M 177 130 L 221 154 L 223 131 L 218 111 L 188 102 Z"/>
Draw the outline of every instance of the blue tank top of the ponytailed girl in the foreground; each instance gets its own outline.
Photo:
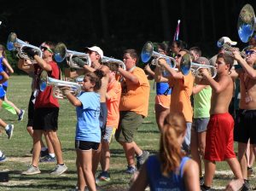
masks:
<path id="1" fill-rule="evenodd" d="M 160 160 L 157 156 L 150 156 L 147 161 L 148 182 L 151 191 L 178 191 L 186 190 L 183 180 L 183 166 L 189 157 L 183 157 L 177 173 L 170 172 L 169 177 L 162 175 Z"/>

